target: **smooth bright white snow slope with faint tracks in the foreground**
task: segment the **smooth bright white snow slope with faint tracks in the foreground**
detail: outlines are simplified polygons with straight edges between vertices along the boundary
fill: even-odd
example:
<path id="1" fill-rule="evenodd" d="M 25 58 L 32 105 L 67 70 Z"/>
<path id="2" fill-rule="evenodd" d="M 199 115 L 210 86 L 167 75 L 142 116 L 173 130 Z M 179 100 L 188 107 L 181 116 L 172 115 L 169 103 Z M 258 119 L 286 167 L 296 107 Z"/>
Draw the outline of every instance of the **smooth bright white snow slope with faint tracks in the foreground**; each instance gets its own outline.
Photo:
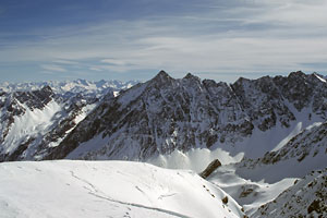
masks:
<path id="1" fill-rule="evenodd" d="M 1 218 L 243 217 L 195 172 L 141 162 L 2 162 L 0 187 Z"/>

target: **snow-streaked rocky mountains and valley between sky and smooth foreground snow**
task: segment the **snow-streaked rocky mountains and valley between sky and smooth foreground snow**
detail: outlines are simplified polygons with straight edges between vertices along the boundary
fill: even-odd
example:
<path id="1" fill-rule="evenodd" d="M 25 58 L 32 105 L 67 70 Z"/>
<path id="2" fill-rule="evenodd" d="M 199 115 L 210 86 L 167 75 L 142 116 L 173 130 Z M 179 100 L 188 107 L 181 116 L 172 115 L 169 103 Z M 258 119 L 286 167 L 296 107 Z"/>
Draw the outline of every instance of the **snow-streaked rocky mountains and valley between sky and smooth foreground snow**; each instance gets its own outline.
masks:
<path id="1" fill-rule="evenodd" d="M 327 216 L 327 83 L 317 73 L 227 84 L 160 71 L 137 84 L 0 90 L 0 161 L 133 160 L 201 172 L 218 158 L 207 180 L 244 216 Z"/>

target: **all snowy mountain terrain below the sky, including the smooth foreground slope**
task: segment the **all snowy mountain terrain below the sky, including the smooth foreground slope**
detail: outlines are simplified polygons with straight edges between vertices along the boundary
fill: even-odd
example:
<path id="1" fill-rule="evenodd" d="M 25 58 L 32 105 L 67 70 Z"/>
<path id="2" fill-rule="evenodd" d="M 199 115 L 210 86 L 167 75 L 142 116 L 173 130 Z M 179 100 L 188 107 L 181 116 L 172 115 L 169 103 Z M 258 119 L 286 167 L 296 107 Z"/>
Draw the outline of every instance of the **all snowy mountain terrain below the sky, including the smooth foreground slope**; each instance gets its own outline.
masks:
<path id="1" fill-rule="evenodd" d="M 4 84 L 0 218 L 326 217 L 323 77 Z"/>

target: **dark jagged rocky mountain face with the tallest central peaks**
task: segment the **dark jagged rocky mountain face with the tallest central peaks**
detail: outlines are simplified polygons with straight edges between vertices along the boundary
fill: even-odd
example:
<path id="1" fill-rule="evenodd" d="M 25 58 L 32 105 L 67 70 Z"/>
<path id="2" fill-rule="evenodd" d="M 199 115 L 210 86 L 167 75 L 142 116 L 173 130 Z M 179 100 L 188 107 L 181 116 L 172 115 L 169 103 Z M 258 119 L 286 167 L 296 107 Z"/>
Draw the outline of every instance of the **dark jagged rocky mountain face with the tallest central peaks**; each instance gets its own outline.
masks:
<path id="1" fill-rule="evenodd" d="M 234 84 L 161 71 L 100 102 L 46 159 L 145 160 L 174 149 L 232 146 L 272 128 L 326 120 L 327 83 L 302 72 Z"/>

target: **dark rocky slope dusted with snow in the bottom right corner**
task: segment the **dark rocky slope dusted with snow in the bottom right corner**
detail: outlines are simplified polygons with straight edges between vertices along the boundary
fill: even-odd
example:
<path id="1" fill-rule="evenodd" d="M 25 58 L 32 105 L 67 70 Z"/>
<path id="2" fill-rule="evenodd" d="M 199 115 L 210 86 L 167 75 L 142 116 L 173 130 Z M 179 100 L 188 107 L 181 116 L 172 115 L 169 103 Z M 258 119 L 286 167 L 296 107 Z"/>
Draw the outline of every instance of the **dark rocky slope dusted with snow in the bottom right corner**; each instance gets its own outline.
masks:
<path id="1" fill-rule="evenodd" d="M 252 217 L 326 217 L 327 168 L 312 171 L 272 202 L 262 205 Z"/>

